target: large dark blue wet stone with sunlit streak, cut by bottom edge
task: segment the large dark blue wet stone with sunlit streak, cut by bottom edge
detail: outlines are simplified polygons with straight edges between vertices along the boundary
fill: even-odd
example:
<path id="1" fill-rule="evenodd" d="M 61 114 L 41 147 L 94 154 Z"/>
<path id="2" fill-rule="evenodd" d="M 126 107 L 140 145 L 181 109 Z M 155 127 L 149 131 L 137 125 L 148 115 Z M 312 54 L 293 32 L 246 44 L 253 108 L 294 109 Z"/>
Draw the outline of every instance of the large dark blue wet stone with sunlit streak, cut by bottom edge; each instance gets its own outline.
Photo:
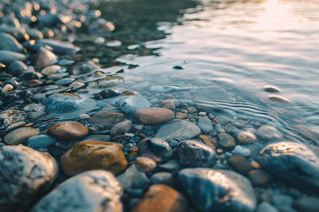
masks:
<path id="1" fill-rule="evenodd" d="M 256 208 L 249 180 L 236 172 L 187 168 L 179 171 L 178 179 L 200 211 L 253 212 Z"/>

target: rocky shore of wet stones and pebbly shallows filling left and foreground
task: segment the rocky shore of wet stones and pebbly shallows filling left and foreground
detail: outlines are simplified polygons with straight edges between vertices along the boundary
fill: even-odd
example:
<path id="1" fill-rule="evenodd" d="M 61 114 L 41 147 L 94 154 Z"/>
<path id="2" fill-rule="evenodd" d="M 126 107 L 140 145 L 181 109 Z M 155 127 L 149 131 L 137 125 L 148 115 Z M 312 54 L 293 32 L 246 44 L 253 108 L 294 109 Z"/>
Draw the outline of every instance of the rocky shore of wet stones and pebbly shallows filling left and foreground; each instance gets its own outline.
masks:
<path id="1" fill-rule="evenodd" d="M 0 2 L 0 211 L 318 211 L 319 134 L 279 88 L 261 119 L 219 85 L 127 82 L 116 58 L 165 33 L 84 2 Z"/>

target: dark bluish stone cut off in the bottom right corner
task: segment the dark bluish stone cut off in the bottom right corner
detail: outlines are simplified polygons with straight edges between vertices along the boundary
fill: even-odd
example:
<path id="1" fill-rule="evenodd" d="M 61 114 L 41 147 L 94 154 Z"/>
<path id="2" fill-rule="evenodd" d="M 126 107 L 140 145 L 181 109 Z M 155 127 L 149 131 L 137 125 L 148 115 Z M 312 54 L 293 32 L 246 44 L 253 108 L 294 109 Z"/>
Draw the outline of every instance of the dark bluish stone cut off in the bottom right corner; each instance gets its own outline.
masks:
<path id="1" fill-rule="evenodd" d="M 319 198 L 312 196 L 301 197 L 294 201 L 293 206 L 298 211 L 317 212 L 319 208 Z"/>

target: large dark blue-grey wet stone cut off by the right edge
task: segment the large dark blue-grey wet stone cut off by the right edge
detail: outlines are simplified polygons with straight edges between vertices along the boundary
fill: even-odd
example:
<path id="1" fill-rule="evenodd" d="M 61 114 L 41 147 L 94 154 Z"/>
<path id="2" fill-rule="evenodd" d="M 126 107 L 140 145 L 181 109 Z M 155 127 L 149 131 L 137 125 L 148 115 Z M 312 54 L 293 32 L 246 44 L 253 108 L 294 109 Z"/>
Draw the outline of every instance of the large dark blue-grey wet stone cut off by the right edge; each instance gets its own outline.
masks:
<path id="1" fill-rule="evenodd" d="M 319 189 L 319 147 L 305 143 L 276 142 L 261 150 L 259 163 L 285 182 Z"/>

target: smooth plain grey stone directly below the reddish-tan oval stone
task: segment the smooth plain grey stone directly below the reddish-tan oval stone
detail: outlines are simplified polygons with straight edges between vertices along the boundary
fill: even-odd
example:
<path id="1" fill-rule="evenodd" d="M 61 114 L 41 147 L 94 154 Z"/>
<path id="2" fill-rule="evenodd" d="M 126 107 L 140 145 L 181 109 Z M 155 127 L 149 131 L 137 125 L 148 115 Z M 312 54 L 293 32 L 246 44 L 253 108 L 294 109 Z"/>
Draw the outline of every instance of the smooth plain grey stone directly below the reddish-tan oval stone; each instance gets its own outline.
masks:
<path id="1" fill-rule="evenodd" d="M 200 128 L 187 120 L 174 119 L 160 127 L 154 138 L 163 140 L 192 139 L 200 134 Z"/>

